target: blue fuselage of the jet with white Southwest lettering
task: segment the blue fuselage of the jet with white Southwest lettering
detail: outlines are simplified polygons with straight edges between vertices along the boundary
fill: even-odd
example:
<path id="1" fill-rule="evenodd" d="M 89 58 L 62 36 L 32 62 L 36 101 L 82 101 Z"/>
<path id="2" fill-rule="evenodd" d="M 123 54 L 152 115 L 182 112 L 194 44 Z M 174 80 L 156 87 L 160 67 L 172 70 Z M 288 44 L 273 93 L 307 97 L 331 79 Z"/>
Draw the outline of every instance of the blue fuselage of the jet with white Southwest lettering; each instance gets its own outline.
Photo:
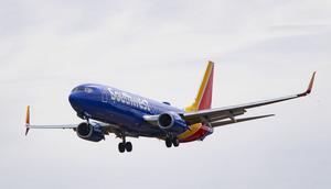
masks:
<path id="1" fill-rule="evenodd" d="M 146 122 L 143 115 L 183 113 L 183 110 L 170 104 L 94 84 L 76 87 L 68 100 L 78 116 L 117 125 L 121 131 L 135 133 L 137 136 L 164 137 L 167 134 L 159 126 Z M 188 125 L 183 123 L 171 133 L 179 135 L 186 130 Z"/>

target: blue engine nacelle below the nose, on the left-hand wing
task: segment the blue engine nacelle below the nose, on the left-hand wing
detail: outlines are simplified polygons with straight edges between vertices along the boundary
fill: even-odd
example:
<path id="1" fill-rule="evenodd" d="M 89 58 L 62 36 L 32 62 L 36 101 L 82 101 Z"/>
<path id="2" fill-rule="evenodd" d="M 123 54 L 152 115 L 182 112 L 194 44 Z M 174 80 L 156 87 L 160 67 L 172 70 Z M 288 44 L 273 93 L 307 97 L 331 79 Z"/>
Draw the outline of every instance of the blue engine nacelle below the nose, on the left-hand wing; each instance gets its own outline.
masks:
<path id="1" fill-rule="evenodd" d="M 92 142 L 99 142 L 105 138 L 102 126 L 95 122 L 89 124 L 86 122 L 81 123 L 77 126 L 76 133 L 81 138 Z"/>

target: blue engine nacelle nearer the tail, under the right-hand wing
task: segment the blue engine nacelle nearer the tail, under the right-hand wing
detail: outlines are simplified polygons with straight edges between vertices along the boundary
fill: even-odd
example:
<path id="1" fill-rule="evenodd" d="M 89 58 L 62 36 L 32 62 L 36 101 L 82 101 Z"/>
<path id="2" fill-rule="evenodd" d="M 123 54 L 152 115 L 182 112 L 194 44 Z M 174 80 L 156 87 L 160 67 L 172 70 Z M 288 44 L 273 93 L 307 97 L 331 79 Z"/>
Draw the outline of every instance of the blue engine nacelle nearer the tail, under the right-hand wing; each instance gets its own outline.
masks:
<path id="1" fill-rule="evenodd" d="M 160 129 L 171 132 L 183 132 L 188 129 L 185 121 L 175 112 L 166 112 L 159 115 Z"/>

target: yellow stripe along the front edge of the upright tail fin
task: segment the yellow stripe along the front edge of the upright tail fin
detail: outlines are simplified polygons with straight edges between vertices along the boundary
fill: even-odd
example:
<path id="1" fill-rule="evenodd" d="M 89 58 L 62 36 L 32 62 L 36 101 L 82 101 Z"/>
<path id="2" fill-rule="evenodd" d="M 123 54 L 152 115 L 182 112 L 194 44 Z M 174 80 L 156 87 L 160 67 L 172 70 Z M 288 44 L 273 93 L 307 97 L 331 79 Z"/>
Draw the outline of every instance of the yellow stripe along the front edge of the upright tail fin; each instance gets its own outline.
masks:
<path id="1" fill-rule="evenodd" d="M 196 98 L 195 98 L 195 101 L 194 101 L 194 103 L 193 103 L 192 105 L 185 108 L 185 111 L 186 111 L 186 112 L 197 111 L 199 105 L 200 105 L 200 102 L 201 102 L 201 99 L 202 99 L 202 97 L 203 97 L 203 92 L 204 92 L 205 87 L 206 87 L 206 85 L 207 85 L 207 81 L 209 81 L 209 79 L 210 79 L 210 76 L 211 76 L 211 73 L 212 73 L 212 69 L 213 69 L 213 65 L 214 65 L 214 63 L 210 60 L 210 62 L 209 62 L 209 65 L 207 65 L 207 68 L 206 68 L 206 70 L 205 70 L 203 80 L 202 80 L 202 82 L 201 82 L 201 86 L 200 86 L 197 96 L 196 96 Z"/>

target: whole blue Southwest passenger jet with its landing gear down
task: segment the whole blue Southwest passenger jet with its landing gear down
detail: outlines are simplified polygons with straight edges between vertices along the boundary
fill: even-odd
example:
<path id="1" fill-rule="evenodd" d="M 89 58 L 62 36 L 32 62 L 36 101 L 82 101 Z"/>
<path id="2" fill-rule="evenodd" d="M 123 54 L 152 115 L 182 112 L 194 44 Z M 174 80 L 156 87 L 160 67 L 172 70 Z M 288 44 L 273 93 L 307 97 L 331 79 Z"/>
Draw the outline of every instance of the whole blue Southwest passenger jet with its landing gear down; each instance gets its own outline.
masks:
<path id="1" fill-rule="evenodd" d="M 213 75 L 214 63 L 209 62 L 195 101 L 185 109 L 178 109 L 168 102 L 158 102 L 109 86 L 81 85 L 72 90 L 68 101 L 84 122 L 32 125 L 28 107 L 25 135 L 30 129 L 73 129 L 78 137 L 92 142 L 99 142 L 105 140 L 105 135 L 115 134 L 121 138 L 118 144 L 120 153 L 132 151 L 132 144 L 127 142 L 127 137 L 154 137 L 163 140 L 167 147 L 178 147 L 180 143 L 203 141 L 217 126 L 273 116 L 274 114 L 237 118 L 252 108 L 309 94 L 316 73 L 310 79 L 308 89 L 302 93 L 216 109 L 211 108 Z"/>

